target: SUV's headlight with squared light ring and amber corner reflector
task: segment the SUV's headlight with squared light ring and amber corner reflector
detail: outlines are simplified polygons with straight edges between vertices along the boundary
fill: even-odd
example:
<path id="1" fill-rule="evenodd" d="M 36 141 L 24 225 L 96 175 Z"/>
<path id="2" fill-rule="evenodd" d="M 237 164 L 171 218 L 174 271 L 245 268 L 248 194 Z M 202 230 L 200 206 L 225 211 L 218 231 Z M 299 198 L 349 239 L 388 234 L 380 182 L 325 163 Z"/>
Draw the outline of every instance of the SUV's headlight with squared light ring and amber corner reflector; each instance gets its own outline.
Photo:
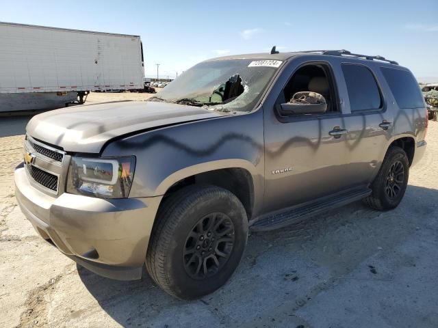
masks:
<path id="1" fill-rule="evenodd" d="M 125 198 L 131 189 L 136 159 L 72 157 L 68 168 L 68 193 L 102 198 Z"/>

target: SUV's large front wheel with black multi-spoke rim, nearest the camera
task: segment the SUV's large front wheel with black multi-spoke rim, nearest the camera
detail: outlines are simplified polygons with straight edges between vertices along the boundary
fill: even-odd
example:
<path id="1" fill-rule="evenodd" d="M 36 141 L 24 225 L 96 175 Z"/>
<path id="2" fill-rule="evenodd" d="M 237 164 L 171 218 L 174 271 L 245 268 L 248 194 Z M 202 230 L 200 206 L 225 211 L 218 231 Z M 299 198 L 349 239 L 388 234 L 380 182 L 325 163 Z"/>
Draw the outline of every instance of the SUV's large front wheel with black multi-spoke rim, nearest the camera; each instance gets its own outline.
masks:
<path id="1" fill-rule="evenodd" d="M 168 294 L 197 299 L 227 282 L 247 239 L 246 211 L 233 193 L 214 186 L 186 187 L 160 206 L 146 269 Z"/>

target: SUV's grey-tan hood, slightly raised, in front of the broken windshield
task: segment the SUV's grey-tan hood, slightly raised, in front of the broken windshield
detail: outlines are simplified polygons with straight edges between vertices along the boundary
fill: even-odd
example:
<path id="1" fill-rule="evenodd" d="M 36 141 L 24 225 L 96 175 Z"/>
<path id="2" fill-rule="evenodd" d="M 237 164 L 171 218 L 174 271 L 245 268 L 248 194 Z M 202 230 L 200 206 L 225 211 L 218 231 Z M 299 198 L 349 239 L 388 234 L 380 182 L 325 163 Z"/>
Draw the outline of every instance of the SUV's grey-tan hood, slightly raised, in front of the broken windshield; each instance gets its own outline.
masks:
<path id="1" fill-rule="evenodd" d="M 167 102 L 111 102 L 48 111 L 34 116 L 27 134 L 67 152 L 99 153 L 114 137 L 227 115 Z"/>

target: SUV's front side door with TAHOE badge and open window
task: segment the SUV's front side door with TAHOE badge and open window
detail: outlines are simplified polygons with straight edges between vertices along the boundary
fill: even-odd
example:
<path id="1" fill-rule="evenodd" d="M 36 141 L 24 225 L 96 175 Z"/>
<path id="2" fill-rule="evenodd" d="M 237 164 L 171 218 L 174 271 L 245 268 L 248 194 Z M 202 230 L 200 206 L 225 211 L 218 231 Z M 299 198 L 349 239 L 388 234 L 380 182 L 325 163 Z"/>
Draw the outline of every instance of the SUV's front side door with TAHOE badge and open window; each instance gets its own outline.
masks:
<path id="1" fill-rule="evenodd" d="M 309 86 L 317 77 L 326 79 L 328 85 L 328 90 L 326 85 L 320 88 L 328 92 L 324 95 L 330 104 L 328 111 L 279 115 L 278 105 L 294 92 L 314 91 Z M 283 71 L 272 92 L 275 89 L 278 96 L 273 106 L 264 108 L 266 212 L 317 200 L 346 189 L 349 183 L 347 134 L 331 65 L 320 61 L 294 64 Z"/>

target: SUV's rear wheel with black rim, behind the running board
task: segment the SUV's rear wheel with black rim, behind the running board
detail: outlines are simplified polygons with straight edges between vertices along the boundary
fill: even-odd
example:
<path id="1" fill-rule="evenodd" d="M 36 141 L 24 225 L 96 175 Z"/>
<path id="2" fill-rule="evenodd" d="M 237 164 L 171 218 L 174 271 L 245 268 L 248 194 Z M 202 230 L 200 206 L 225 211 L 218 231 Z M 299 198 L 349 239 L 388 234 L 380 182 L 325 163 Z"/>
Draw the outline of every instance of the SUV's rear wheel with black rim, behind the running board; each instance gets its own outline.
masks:
<path id="1" fill-rule="evenodd" d="M 396 208 L 406 191 L 408 178 L 409 161 L 406 152 L 400 147 L 390 147 L 381 169 L 372 182 L 372 194 L 364 200 L 365 204 L 375 210 Z"/>

